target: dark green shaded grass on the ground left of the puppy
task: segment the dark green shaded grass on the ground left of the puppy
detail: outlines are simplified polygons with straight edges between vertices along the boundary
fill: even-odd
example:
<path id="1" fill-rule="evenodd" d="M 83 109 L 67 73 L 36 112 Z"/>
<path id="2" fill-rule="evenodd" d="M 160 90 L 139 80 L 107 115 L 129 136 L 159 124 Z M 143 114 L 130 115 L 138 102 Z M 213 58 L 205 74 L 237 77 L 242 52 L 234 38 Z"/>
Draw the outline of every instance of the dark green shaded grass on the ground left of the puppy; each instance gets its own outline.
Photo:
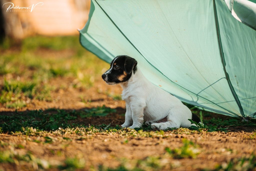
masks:
<path id="1" fill-rule="evenodd" d="M 76 120 L 78 117 L 106 116 L 112 112 L 115 112 L 115 110 L 106 108 L 105 106 L 69 112 L 54 109 L 52 114 L 43 112 L 42 110 L 35 110 L 26 114 L 14 113 L 13 115 L 0 115 L 0 128 L 3 132 L 15 132 L 21 131 L 22 128 L 25 129 L 26 127 L 34 127 L 41 131 L 57 130 L 59 127 L 81 127 L 84 126 L 82 123 L 73 122 L 73 120 Z"/>

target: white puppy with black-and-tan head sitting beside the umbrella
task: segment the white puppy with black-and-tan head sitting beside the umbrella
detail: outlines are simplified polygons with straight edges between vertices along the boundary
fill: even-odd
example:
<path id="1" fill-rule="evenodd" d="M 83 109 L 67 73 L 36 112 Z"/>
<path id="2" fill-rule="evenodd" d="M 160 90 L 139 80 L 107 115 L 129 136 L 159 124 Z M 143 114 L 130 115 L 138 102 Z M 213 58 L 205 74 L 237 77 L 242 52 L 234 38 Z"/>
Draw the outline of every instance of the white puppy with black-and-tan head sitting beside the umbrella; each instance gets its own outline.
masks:
<path id="1" fill-rule="evenodd" d="M 166 130 L 195 125 L 188 119 L 200 121 L 179 99 L 148 81 L 134 58 L 115 57 L 102 79 L 110 85 L 120 83 L 123 88 L 126 113 L 122 127 L 134 129 L 145 121 L 152 129 Z"/>

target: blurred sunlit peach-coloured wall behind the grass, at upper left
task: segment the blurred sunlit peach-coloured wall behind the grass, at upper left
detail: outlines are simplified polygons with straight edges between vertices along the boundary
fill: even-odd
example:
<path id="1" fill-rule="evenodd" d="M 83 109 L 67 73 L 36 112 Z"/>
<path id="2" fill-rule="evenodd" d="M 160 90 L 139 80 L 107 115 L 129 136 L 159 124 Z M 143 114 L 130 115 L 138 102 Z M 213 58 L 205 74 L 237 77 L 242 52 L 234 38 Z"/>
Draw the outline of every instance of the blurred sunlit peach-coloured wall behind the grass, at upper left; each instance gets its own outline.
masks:
<path id="1" fill-rule="evenodd" d="M 22 39 L 29 35 L 47 36 L 78 34 L 83 28 L 90 10 L 90 0 L 1 0 L 2 36 Z M 12 4 L 30 9 L 7 8 Z M 31 5 L 42 2 L 43 5 Z M 8 4 L 5 4 L 8 3 Z M 5 5 L 4 5 L 5 4 Z M 18 10 L 18 11 L 17 11 Z"/>

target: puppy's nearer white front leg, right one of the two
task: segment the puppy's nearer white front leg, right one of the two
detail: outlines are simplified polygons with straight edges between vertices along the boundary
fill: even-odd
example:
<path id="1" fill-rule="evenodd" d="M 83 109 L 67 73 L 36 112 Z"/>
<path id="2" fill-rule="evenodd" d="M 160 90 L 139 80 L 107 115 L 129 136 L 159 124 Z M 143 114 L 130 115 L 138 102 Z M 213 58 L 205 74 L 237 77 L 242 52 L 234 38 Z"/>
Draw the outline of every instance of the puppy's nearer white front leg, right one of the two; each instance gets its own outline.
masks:
<path id="1" fill-rule="evenodd" d="M 146 103 L 142 101 L 141 99 L 136 99 L 131 104 L 131 110 L 132 110 L 132 120 L 133 124 L 129 128 L 139 128 L 143 124 L 143 116 L 144 116 L 144 108 L 146 106 Z"/>

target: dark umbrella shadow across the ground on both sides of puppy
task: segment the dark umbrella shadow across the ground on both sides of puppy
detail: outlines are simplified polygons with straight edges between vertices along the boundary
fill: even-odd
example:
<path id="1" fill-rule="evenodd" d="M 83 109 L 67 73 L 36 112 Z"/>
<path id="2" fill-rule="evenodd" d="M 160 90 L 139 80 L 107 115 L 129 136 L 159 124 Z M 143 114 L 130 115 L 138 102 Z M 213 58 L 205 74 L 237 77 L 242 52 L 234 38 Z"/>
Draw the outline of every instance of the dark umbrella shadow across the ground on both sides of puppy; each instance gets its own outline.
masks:
<path id="1" fill-rule="evenodd" d="M 22 112 L 1 112 L 0 128 L 3 133 L 20 131 L 22 127 L 34 127 L 40 130 L 56 130 L 58 128 L 67 127 L 88 127 L 108 125 L 109 127 L 120 127 L 125 118 L 124 108 L 108 108 L 99 106 L 96 108 L 81 108 L 76 110 L 65 110 L 50 108 L 47 110 L 26 110 Z M 194 110 L 193 113 L 199 113 Z M 205 112 L 203 114 L 203 122 L 205 130 L 224 131 L 224 132 L 253 132 L 256 127 L 256 122 L 242 121 L 239 118 L 234 118 L 225 115 Z M 212 129 L 214 128 L 214 129 Z M 120 127 L 121 129 L 121 127 Z M 152 131 L 149 126 L 143 125 L 141 128 L 144 131 Z M 168 130 L 167 130 L 168 131 Z"/>

